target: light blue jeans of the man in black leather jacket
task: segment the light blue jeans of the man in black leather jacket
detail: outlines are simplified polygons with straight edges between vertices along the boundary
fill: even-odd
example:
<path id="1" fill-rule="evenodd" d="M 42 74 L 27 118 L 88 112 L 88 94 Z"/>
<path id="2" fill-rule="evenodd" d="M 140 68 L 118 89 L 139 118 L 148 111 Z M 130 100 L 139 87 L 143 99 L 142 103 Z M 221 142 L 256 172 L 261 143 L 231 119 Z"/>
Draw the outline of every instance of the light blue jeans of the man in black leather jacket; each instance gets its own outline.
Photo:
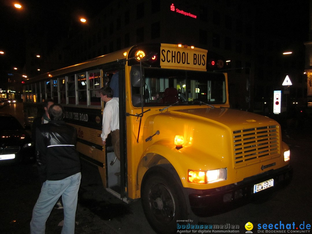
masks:
<path id="1" fill-rule="evenodd" d="M 75 233 L 75 217 L 81 173 L 62 180 L 47 180 L 43 183 L 39 198 L 32 211 L 31 234 L 45 233 L 48 219 L 55 203 L 62 196 L 64 225 L 62 233 Z"/>

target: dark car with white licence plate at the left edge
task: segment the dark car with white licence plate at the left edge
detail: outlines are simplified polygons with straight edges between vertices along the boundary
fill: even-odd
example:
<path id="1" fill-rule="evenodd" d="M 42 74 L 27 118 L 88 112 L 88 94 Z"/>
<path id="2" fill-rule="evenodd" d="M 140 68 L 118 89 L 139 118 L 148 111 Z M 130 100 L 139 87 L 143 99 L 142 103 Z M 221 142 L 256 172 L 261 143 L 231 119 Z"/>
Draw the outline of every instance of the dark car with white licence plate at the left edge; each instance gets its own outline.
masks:
<path id="1" fill-rule="evenodd" d="M 0 164 L 34 159 L 35 146 L 30 135 L 15 117 L 0 113 Z"/>

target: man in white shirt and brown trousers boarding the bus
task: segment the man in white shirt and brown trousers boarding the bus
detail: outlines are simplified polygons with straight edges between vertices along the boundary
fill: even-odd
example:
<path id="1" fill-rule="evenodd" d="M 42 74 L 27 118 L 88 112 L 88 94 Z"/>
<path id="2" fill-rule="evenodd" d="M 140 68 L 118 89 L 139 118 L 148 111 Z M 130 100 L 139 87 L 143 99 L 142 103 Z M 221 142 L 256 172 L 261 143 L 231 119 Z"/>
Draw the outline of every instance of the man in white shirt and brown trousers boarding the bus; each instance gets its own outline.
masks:
<path id="1" fill-rule="evenodd" d="M 119 152 L 119 98 L 113 98 L 113 90 L 106 86 L 100 88 L 100 96 L 103 102 L 106 102 L 103 111 L 102 122 L 102 142 L 106 144 L 106 138 L 108 134 L 112 136 L 112 144 L 114 152 L 118 160 L 120 161 Z"/>

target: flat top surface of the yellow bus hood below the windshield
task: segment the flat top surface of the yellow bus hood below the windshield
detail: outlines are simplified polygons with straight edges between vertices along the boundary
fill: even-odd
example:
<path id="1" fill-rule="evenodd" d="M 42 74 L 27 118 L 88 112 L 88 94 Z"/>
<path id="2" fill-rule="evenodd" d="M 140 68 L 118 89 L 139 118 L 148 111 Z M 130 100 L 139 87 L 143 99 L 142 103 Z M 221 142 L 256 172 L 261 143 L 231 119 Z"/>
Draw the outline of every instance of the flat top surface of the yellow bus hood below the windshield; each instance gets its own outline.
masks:
<path id="1" fill-rule="evenodd" d="M 263 115 L 247 111 L 234 110 L 229 108 L 199 108 L 170 111 L 171 115 L 195 118 L 198 120 L 214 122 L 215 124 L 226 125 L 232 130 L 263 125 L 276 125 L 277 122 Z"/>

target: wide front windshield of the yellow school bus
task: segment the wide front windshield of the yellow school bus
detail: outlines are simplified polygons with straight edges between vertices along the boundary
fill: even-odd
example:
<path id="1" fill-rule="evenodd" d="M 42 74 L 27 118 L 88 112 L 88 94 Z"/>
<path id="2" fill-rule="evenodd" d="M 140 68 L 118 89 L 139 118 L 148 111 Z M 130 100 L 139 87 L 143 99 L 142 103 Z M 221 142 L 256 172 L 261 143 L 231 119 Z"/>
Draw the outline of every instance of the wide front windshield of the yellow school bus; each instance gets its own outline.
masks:
<path id="1" fill-rule="evenodd" d="M 222 73 L 144 68 L 144 106 L 198 105 L 200 101 L 218 105 L 226 102 L 226 82 Z M 139 94 L 138 88 L 133 94 Z"/>

